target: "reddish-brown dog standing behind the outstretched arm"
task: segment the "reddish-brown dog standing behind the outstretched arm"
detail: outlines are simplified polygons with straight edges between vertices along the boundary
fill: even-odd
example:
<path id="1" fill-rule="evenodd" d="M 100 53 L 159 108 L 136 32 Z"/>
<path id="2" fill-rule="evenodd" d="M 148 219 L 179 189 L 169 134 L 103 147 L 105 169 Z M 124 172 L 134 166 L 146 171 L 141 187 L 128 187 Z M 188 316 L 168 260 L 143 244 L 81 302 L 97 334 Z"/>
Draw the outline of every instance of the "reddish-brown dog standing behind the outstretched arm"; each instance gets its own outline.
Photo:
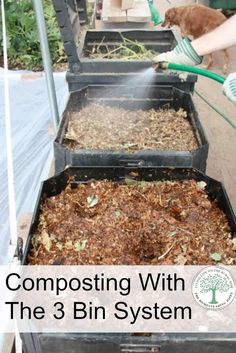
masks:
<path id="1" fill-rule="evenodd" d="M 221 25 L 226 17 L 219 11 L 210 9 L 204 5 L 188 5 L 172 7 L 165 13 L 165 20 L 162 27 L 180 27 L 182 37 L 193 36 L 194 39 L 208 33 Z M 229 53 L 224 50 L 223 72 L 227 72 L 229 66 Z M 209 54 L 206 68 L 213 64 L 213 55 Z"/>

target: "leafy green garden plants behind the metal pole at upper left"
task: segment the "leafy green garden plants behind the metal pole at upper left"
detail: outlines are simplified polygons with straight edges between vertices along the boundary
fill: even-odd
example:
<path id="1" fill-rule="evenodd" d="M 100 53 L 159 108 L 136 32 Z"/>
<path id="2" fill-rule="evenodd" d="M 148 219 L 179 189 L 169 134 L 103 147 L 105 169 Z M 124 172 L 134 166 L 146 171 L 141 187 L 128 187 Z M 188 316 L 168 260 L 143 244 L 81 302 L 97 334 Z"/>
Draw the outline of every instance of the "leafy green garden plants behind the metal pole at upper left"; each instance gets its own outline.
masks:
<path id="1" fill-rule="evenodd" d="M 43 6 L 52 62 L 65 61 L 63 43 L 51 1 L 43 0 Z M 32 1 L 5 0 L 5 15 L 9 66 L 29 70 L 42 69 L 40 43 Z M 2 51 L 1 30 L 0 56 L 3 55 Z"/>

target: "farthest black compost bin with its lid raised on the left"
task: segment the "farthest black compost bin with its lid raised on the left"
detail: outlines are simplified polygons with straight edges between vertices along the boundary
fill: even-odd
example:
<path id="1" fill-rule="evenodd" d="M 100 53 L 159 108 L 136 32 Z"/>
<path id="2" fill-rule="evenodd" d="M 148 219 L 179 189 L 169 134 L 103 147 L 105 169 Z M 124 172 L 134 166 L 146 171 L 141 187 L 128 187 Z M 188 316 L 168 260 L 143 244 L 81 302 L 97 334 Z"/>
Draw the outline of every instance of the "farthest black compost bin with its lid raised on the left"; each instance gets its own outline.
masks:
<path id="1" fill-rule="evenodd" d="M 80 31 L 79 13 L 85 12 L 84 6 L 75 6 L 75 2 L 52 0 L 60 27 L 65 52 L 68 57 L 69 71 L 67 81 L 70 91 L 78 90 L 90 84 L 121 84 L 124 77 L 150 67 L 150 60 L 93 59 L 88 51 L 99 46 L 100 51 L 120 46 L 123 38 L 138 41 L 153 53 L 162 53 L 173 49 L 180 39 L 172 30 L 88 30 L 85 35 Z M 80 16 L 81 17 L 81 16 Z M 153 54 L 155 55 L 155 54 Z M 182 75 L 173 72 L 155 74 L 156 84 L 173 85 L 185 91 L 193 91 L 197 76 Z"/>

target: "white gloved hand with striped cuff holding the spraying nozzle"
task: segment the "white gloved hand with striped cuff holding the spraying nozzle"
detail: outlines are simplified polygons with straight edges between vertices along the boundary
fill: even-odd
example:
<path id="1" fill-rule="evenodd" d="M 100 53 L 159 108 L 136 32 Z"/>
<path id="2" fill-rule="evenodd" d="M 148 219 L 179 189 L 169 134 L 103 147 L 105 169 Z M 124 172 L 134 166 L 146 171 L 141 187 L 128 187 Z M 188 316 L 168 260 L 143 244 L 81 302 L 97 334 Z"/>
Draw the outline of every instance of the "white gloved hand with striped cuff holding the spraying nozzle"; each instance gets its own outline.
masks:
<path id="1" fill-rule="evenodd" d="M 171 62 L 195 66 L 201 64 L 202 59 L 202 56 L 199 56 L 192 47 L 191 41 L 188 38 L 184 38 L 173 50 L 155 56 L 153 63 Z"/>

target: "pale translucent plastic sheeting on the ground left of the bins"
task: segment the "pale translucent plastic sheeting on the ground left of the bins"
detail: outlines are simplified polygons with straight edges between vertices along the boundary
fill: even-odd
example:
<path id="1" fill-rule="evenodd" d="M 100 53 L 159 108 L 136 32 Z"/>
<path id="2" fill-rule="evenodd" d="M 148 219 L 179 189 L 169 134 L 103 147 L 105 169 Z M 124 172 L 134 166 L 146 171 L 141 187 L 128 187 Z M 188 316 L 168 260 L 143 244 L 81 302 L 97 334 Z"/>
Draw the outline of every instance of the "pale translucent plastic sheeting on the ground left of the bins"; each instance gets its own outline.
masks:
<path id="1" fill-rule="evenodd" d="M 65 73 L 54 74 L 61 115 L 68 99 Z M 3 70 L 0 69 L 0 264 L 9 254 L 9 214 Z M 42 73 L 9 71 L 12 145 L 17 220 L 34 210 L 41 181 L 48 177 L 53 160 L 53 123 Z"/>

